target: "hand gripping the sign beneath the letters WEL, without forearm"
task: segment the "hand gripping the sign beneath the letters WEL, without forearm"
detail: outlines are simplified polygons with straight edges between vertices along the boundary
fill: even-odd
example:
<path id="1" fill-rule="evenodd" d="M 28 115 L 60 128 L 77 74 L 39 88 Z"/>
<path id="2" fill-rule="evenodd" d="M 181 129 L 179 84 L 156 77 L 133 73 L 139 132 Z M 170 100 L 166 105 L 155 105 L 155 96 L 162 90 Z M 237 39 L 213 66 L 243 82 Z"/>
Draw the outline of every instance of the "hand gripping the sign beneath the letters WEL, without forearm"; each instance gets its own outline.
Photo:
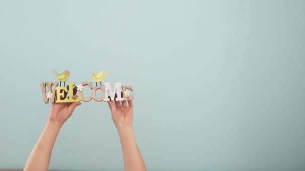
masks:
<path id="1" fill-rule="evenodd" d="M 73 99 L 77 96 L 74 95 Z M 61 126 L 68 120 L 72 115 L 76 106 L 79 106 L 81 102 L 73 103 L 53 103 L 51 107 L 51 112 L 49 116 L 49 121 L 60 124 Z"/>

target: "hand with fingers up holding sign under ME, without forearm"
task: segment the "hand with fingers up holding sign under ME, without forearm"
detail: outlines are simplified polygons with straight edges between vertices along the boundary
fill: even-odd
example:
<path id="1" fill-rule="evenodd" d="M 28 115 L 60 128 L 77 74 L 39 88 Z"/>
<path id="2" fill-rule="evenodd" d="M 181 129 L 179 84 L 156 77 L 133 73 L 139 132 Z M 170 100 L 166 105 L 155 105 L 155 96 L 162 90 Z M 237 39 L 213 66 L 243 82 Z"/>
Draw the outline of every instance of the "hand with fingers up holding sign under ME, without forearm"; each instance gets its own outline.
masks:
<path id="1" fill-rule="evenodd" d="M 116 127 L 132 126 L 133 121 L 133 104 L 132 100 L 128 101 L 108 101 L 112 115 L 112 120 Z"/>

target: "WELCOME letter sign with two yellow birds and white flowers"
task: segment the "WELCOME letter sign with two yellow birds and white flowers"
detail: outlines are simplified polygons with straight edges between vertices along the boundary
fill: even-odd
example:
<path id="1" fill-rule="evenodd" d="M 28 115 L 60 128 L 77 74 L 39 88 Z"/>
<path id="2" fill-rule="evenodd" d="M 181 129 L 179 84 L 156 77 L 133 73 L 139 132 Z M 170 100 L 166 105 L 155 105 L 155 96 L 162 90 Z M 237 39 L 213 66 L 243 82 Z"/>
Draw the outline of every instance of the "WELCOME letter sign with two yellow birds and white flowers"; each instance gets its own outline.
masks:
<path id="1" fill-rule="evenodd" d="M 46 104 L 49 103 L 49 101 L 51 101 L 51 103 L 65 103 L 79 101 L 89 102 L 92 99 L 98 102 L 133 99 L 133 95 L 131 94 L 133 92 L 132 86 L 122 86 L 122 83 L 116 82 L 114 90 L 112 90 L 109 82 L 102 84 L 102 80 L 108 75 L 108 72 L 101 71 L 99 73 L 92 73 L 91 77 L 95 82 L 95 86 L 93 86 L 92 82 L 87 81 L 84 81 L 79 85 L 75 85 L 75 82 L 67 82 L 70 76 L 69 70 L 65 70 L 63 73 L 54 71 L 54 73 L 59 82 L 42 82 L 40 84 L 43 100 Z M 83 88 L 85 86 L 88 86 L 92 91 L 91 96 L 87 98 L 83 94 Z M 96 96 L 97 90 L 102 91 L 101 97 Z"/>

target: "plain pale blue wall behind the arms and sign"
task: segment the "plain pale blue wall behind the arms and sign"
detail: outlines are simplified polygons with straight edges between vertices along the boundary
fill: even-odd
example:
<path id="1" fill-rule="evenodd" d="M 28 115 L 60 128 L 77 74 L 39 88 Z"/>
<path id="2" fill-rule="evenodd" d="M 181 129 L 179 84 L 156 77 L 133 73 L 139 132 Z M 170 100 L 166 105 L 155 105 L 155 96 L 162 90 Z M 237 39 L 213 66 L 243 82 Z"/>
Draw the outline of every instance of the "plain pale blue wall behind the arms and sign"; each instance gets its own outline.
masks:
<path id="1" fill-rule="evenodd" d="M 1 0 L 0 167 L 48 118 L 40 82 L 133 85 L 148 170 L 305 170 L 305 1 Z M 87 91 L 88 92 L 88 91 Z M 50 168 L 122 170 L 106 103 L 83 103 Z"/>

